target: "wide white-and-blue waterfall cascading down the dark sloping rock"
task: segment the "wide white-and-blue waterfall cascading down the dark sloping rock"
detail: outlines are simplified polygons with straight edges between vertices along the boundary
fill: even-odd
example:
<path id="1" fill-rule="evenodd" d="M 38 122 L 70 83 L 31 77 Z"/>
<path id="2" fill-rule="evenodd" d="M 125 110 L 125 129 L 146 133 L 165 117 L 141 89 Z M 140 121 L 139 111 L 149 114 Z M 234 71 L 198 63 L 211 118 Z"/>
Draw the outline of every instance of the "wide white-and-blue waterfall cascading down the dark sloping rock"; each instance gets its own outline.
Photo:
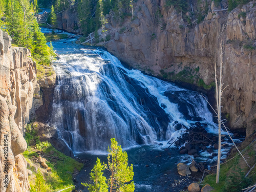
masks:
<path id="1" fill-rule="evenodd" d="M 105 151 L 113 137 L 122 147 L 174 140 L 195 121 L 215 130 L 197 92 L 126 69 L 100 49 L 62 49 L 51 124 L 73 152 Z"/>

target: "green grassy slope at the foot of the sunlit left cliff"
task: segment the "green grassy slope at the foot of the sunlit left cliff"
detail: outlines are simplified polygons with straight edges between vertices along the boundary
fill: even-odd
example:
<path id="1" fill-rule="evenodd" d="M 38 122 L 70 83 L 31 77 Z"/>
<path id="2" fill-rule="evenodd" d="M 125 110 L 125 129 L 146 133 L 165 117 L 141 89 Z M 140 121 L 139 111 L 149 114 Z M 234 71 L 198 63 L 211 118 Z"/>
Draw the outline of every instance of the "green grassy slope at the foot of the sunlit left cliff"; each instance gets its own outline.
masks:
<path id="1" fill-rule="evenodd" d="M 38 150 L 44 152 L 45 155 L 58 157 L 61 160 L 58 160 L 56 163 L 51 163 L 51 158 L 47 158 L 49 162 L 47 165 L 52 168 L 51 172 L 45 173 L 44 177 L 47 183 L 48 191 L 58 191 L 61 189 L 65 189 L 70 186 L 74 186 L 72 173 L 75 169 L 81 170 L 83 164 L 77 162 L 75 159 L 68 157 L 61 152 L 57 151 L 49 142 L 40 142 L 39 137 L 37 135 L 36 126 L 32 126 L 32 124 L 28 124 L 26 127 L 25 140 L 28 143 L 27 150 L 23 153 L 24 157 L 28 162 L 32 164 L 33 156 L 38 157 L 36 153 Z M 50 151 L 54 151 L 54 155 L 50 154 Z M 33 168 L 31 167 L 32 171 Z M 31 186 L 34 185 L 35 177 L 29 177 Z M 72 188 L 69 188 L 65 191 L 71 191 Z"/>

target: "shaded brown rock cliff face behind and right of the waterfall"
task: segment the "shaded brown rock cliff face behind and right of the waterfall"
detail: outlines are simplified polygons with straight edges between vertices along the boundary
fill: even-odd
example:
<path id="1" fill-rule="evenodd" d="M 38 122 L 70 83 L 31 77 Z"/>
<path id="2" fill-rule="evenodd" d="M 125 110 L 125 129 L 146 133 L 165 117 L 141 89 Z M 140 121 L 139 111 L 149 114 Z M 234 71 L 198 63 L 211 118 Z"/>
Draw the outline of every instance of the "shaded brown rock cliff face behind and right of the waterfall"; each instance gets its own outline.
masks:
<path id="1" fill-rule="evenodd" d="M 201 23 L 164 0 L 138 0 L 134 19 L 119 26 L 112 14 L 105 28 L 111 40 L 108 51 L 130 66 L 169 80 L 193 84 L 214 81 L 214 60 L 220 63 L 223 43 L 223 112 L 232 129 L 245 128 L 247 136 L 256 122 L 256 6 L 255 1 L 228 13 L 217 11 L 214 1 L 191 1 L 193 11 L 208 10 Z M 225 1 L 222 1 L 225 7 Z M 191 10 L 190 10 L 191 11 Z M 242 14 L 241 14 L 242 13 Z M 243 15 L 243 16 L 241 16 Z M 192 24 L 189 24 L 192 23 Z M 203 80 L 203 81 L 202 81 Z M 203 83 L 204 84 L 204 83 Z"/>

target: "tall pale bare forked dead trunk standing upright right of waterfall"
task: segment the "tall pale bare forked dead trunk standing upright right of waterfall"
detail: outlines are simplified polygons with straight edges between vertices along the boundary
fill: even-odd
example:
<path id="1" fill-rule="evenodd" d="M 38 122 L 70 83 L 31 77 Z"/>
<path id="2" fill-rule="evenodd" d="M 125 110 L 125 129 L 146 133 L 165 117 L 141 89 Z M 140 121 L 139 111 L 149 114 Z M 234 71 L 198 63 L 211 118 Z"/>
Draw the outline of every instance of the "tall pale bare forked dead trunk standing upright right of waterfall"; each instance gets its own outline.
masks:
<path id="1" fill-rule="evenodd" d="M 222 41 L 221 41 L 221 55 L 220 55 L 220 77 L 219 87 L 217 81 L 217 67 L 215 57 L 215 84 L 216 84 L 216 102 L 217 102 L 217 113 L 218 113 L 218 127 L 219 127 L 219 149 L 218 149 L 218 163 L 217 163 L 217 174 L 216 183 L 219 183 L 220 179 L 220 164 L 221 164 L 221 96 L 222 96 Z"/>

